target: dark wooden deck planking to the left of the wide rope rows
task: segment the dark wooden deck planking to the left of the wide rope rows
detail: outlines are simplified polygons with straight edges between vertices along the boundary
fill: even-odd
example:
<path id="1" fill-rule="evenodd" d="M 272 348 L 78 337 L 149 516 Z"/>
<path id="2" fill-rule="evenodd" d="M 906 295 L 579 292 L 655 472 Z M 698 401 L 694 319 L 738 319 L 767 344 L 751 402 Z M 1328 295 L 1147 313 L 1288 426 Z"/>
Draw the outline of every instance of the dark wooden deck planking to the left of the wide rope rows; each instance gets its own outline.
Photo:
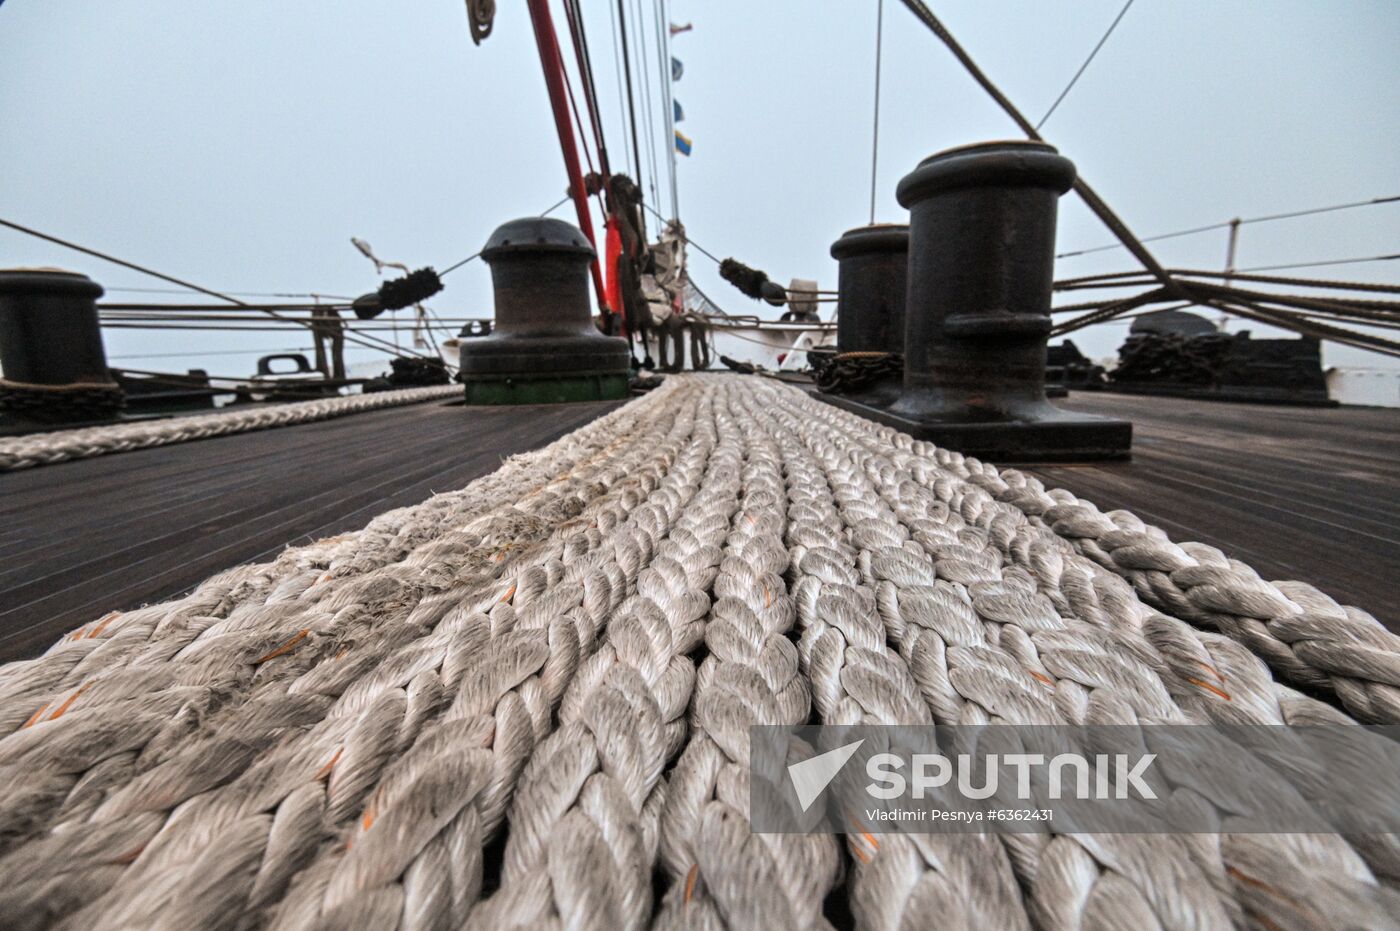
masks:
<path id="1" fill-rule="evenodd" d="M 0 661 L 459 489 L 617 403 L 414 405 L 0 475 Z"/>

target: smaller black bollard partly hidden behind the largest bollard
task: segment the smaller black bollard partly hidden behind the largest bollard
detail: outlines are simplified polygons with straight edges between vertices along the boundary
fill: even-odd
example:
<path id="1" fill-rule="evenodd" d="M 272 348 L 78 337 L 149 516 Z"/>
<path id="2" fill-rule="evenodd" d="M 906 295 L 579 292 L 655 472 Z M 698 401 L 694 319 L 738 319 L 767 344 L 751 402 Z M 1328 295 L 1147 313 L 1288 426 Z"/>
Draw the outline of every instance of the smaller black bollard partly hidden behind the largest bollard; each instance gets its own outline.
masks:
<path id="1" fill-rule="evenodd" d="M 832 244 L 837 272 L 836 349 L 830 386 L 818 395 L 860 413 L 900 395 L 909 227 L 881 223 L 847 230 Z M 855 354 L 855 356 L 853 356 Z"/>

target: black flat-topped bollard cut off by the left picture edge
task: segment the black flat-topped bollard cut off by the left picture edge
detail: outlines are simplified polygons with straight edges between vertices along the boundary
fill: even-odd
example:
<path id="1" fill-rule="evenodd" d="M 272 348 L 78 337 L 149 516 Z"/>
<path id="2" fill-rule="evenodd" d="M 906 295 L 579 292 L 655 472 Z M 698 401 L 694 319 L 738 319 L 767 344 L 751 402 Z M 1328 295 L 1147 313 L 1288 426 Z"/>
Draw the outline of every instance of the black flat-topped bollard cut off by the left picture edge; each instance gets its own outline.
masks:
<path id="1" fill-rule="evenodd" d="M 0 270 L 0 414 L 8 431 L 118 416 L 123 396 L 102 349 L 101 295 L 77 272 Z"/>

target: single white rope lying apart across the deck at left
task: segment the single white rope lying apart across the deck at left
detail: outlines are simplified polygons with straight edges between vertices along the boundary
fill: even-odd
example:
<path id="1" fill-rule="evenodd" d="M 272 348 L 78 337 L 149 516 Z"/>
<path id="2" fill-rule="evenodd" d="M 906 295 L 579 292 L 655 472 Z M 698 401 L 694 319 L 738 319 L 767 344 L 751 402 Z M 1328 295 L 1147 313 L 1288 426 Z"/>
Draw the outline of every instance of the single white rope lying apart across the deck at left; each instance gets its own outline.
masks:
<path id="1" fill-rule="evenodd" d="M 379 410 L 382 407 L 419 405 L 426 400 L 452 398 L 459 395 L 461 391 L 461 388 L 454 385 L 409 388 L 406 391 L 349 395 L 326 400 L 266 405 L 253 410 L 38 433 L 27 437 L 0 440 L 0 472 L 32 469 L 34 466 L 66 462 L 67 459 L 88 459 L 91 456 L 130 452 L 132 449 L 146 449 L 148 447 L 165 447 L 172 442 L 225 437 L 234 433 L 248 433 L 249 430 L 290 427 L 298 423 L 330 420 L 365 410 Z"/>

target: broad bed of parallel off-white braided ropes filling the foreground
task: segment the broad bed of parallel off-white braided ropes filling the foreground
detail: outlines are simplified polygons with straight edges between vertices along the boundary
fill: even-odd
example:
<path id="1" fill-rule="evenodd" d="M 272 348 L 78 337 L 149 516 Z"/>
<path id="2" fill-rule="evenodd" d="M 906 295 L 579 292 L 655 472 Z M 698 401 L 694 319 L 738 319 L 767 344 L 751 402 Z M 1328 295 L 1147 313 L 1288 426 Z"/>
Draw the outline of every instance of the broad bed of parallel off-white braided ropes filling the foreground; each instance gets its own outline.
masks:
<path id="1" fill-rule="evenodd" d="M 1270 666 L 1400 721 L 1400 638 L 1302 582 L 776 382 L 671 377 L 461 491 L 0 668 L 0 909 L 1393 927 L 1394 839 L 1231 834 L 1204 790 L 1177 791 L 1222 833 L 749 827 L 750 724 L 1354 720 Z"/>

